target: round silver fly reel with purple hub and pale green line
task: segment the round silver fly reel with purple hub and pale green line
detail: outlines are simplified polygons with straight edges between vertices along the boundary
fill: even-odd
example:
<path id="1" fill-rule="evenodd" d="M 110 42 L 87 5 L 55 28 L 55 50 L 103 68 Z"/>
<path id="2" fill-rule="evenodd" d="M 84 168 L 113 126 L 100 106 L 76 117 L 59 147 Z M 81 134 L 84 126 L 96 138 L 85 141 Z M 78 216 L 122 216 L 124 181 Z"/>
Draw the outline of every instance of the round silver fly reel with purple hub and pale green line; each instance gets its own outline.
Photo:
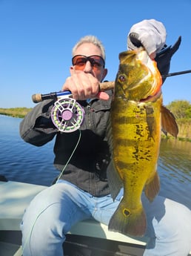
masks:
<path id="1" fill-rule="evenodd" d="M 54 103 L 51 117 L 59 131 L 70 133 L 80 128 L 84 121 L 84 109 L 76 99 L 61 98 Z"/>

